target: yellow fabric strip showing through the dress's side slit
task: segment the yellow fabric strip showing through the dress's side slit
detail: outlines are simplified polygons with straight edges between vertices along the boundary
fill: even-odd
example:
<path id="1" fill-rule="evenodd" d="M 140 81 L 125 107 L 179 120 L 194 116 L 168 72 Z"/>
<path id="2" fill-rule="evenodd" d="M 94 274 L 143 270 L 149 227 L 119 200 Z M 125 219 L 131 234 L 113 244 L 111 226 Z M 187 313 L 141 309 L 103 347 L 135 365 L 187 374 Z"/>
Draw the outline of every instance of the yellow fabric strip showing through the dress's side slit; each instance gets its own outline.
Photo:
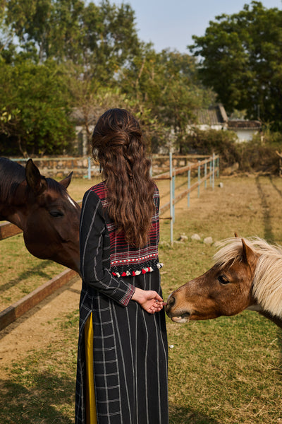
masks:
<path id="1" fill-rule="evenodd" d="M 92 312 L 85 323 L 85 365 L 86 365 L 86 387 L 85 387 L 85 413 L 87 424 L 97 424 L 96 399 L 94 390 L 93 371 L 93 323 Z"/>

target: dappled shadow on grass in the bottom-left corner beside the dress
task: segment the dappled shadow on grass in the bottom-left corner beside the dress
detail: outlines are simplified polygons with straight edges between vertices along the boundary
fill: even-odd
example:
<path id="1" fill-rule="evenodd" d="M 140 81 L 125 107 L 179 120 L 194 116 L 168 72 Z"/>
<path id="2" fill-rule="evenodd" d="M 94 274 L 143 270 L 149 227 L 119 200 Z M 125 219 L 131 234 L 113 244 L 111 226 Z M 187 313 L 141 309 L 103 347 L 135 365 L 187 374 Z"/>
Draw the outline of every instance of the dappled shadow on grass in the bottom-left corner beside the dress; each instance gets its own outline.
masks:
<path id="1" fill-rule="evenodd" d="M 74 423 L 73 379 L 35 372 L 23 382 L 0 381 L 0 391 L 1 424 Z"/>

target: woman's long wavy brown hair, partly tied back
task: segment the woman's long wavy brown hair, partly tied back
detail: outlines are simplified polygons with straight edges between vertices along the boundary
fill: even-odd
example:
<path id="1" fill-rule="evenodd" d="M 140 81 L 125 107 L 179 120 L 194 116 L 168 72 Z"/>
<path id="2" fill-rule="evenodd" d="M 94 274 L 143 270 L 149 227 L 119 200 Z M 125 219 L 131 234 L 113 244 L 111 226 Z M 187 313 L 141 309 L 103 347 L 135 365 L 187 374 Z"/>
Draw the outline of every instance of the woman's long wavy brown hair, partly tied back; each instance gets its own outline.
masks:
<path id="1" fill-rule="evenodd" d="M 106 180 L 107 211 L 134 247 L 146 244 L 156 207 L 146 147 L 140 124 L 128 110 L 107 110 L 94 128 L 92 153 Z"/>

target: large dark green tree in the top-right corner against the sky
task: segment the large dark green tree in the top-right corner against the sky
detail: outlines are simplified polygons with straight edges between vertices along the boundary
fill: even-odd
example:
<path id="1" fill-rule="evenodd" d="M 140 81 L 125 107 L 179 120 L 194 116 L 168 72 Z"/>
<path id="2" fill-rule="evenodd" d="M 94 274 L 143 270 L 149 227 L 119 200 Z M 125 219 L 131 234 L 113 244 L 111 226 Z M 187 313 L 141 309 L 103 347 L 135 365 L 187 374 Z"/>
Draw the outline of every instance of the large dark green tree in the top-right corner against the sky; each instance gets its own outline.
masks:
<path id="1" fill-rule="evenodd" d="M 200 78 L 228 112 L 246 110 L 250 119 L 281 127 L 281 10 L 252 1 L 239 13 L 217 16 L 193 40 Z"/>

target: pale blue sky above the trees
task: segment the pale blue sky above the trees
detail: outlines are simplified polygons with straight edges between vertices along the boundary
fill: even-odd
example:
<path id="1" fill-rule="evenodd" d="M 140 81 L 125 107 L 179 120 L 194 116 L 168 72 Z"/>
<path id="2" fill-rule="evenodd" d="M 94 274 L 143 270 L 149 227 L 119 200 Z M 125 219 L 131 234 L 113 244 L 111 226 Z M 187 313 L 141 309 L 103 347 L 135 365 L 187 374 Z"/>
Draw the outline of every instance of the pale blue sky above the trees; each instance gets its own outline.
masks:
<path id="1" fill-rule="evenodd" d="M 226 13 L 243 10 L 250 0 L 110 0 L 128 3 L 135 11 L 135 23 L 140 40 L 152 42 L 154 49 L 177 49 L 189 53 L 192 35 L 204 35 L 209 20 Z M 282 9 L 282 0 L 261 0 L 266 8 Z"/>

